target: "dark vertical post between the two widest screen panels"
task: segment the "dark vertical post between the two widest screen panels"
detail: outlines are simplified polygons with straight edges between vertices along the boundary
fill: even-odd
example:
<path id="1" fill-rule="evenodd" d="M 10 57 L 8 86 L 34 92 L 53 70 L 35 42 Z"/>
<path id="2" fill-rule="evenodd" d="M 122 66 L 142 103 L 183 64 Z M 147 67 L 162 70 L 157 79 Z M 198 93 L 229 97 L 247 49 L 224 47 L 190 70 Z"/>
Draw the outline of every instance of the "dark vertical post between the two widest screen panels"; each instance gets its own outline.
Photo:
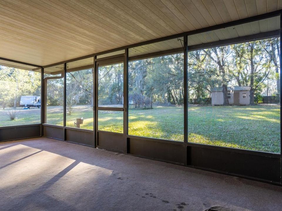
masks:
<path id="1" fill-rule="evenodd" d="M 187 49 L 187 34 L 184 35 L 183 42 L 183 64 L 184 64 L 184 165 L 187 165 L 187 145 L 188 142 L 188 93 L 187 93 L 187 83 L 188 83 L 188 49 Z"/>

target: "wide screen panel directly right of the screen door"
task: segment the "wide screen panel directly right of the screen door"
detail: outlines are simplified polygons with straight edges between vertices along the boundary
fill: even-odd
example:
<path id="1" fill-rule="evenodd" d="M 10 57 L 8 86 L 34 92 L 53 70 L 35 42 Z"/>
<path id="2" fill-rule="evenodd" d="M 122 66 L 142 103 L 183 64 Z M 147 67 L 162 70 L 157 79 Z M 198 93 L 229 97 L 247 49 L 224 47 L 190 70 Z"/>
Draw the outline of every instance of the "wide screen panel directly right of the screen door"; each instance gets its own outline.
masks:
<path id="1" fill-rule="evenodd" d="M 129 62 L 128 134 L 184 141 L 183 53 Z"/>

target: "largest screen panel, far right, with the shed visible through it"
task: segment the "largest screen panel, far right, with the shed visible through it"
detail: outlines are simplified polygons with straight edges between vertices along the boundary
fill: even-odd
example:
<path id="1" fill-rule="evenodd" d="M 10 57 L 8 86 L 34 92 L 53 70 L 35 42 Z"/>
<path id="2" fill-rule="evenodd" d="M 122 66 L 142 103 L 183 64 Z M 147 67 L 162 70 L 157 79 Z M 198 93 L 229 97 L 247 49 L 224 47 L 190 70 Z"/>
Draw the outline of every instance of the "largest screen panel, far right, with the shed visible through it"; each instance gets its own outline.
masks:
<path id="1" fill-rule="evenodd" d="M 280 153 L 280 16 L 188 36 L 188 142 Z"/>

